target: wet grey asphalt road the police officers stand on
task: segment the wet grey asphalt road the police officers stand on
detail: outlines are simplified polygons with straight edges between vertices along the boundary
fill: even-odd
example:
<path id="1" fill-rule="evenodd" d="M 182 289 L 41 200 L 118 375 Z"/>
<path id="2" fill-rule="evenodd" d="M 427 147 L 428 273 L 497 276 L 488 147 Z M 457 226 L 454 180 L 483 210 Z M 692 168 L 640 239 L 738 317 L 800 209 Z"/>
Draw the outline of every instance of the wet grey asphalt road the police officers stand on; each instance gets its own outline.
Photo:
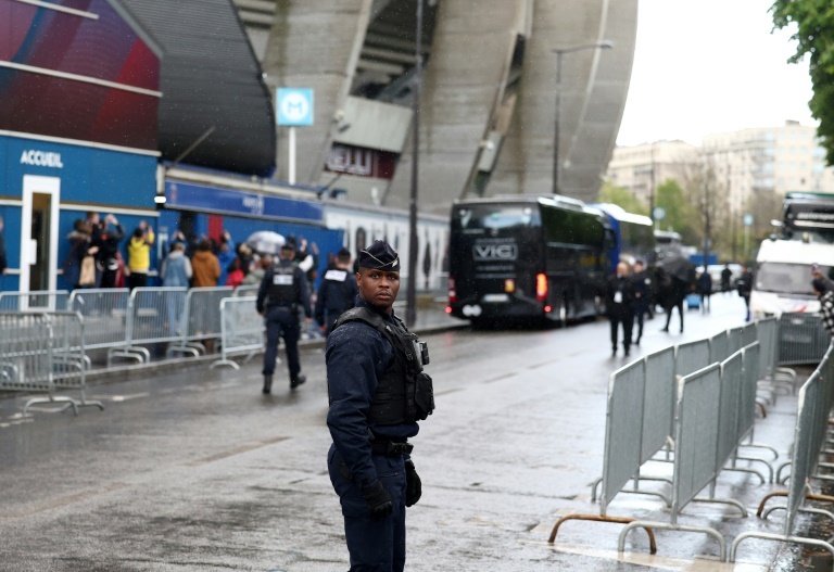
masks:
<path id="1" fill-rule="evenodd" d="M 743 317 L 735 295 L 713 296 L 709 316 L 688 312 L 684 334 L 659 332 L 658 316 L 632 357 Z M 628 363 L 610 357 L 607 322 L 427 340 L 438 409 L 413 440 L 424 496 L 408 512 L 407 570 L 793 569 L 793 552 L 754 541 L 743 545 L 742 563 L 721 565 L 715 542 L 699 534 L 658 532 L 658 556 L 649 557 L 634 533 L 618 555 L 620 526 L 603 523 L 568 522 L 547 544 L 560 516 L 598 513 L 589 484 L 602 470 L 608 374 Z M 291 393 L 279 368 L 271 396 L 262 396 L 252 363 L 97 382 L 88 393 L 106 409 L 77 418 L 43 410 L 22 418 L 22 398 L 0 399 L 0 570 L 346 570 L 326 470 L 321 348 L 305 348 L 302 364 L 308 382 Z M 776 463 L 786 460 L 795 403 L 781 397 L 757 421 L 757 441 L 781 453 Z M 779 487 L 722 473 L 718 488 L 751 516 L 691 505 L 682 522 L 715 526 L 728 542 L 780 530 L 778 517 L 755 517 L 759 499 Z M 609 512 L 669 519 L 660 501 L 636 495 L 619 495 Z"/>

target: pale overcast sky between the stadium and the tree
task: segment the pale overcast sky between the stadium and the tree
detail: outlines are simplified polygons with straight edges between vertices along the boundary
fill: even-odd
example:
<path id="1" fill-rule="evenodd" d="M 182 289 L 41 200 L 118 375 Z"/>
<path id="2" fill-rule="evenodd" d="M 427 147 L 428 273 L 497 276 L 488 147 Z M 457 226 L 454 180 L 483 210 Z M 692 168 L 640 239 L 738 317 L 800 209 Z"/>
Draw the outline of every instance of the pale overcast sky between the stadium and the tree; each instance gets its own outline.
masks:
<path id="1" fill-rule="evenodd" d="M 807 61 L 789 30 L 771 34 L 770 0 L 640 0 L 637 41 L 619 145 L 817 125 Z M 615 47 L 616 49 L 616 47 Z"/>

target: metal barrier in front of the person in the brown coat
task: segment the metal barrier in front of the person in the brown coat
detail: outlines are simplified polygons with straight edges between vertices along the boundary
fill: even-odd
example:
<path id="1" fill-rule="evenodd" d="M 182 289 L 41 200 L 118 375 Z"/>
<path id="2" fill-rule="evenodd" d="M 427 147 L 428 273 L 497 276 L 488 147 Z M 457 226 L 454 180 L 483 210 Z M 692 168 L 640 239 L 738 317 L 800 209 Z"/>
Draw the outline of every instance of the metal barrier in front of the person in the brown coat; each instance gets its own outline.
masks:
<path id="1" fill-rule="evenodd" d="M 168 347 L 166 355 L 179 352 L 197 356 L 206 351 L 200 342 L 220 339 L 220 301 L 232 296 L 233 292 L 230 287 L 193 288 L 186 294 L 184 306 L 178 306 L 179 297 L 169 296 L 168 331 L 181 338 Z"/>

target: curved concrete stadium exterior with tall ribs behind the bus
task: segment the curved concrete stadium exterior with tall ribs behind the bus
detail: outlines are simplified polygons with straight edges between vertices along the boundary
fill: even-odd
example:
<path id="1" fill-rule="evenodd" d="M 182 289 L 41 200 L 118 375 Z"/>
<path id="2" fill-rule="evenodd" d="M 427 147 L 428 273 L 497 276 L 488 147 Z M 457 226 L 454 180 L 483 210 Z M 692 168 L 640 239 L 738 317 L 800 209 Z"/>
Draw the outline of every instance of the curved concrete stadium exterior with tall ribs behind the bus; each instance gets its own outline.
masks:
<path id="1" fill-rule="evenodd" d="M 554 49 L 563 58 L 560 192 L 595 200 L 626 103 L 637 0 L 422 0 L 419 206 L 553 192 Z M 412 171 L 417 0 L 233 0 L 275 91 L 315 90 L 298 130 L 298 180 L 348 200 L 406 207 Z M 278 130 L 277 178 L 288 178 Z"/>

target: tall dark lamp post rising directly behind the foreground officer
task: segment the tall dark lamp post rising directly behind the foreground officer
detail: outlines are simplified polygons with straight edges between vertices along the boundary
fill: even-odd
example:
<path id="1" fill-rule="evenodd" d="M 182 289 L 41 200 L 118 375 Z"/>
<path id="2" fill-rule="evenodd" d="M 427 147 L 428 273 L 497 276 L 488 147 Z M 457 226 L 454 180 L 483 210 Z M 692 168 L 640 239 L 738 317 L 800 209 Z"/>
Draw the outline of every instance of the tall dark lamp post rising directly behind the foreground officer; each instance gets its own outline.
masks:
<path id="1" fill-rule="evenodd" d="M 417 0 L 415 29 L 415 77 L 412 90 L 412 194 L 408 205 L 408 284 L 405 298 L 405 323 L 414 327 L 417 319 L 417 183 L 420 154 L 420 88 L 422 87 L 422 0 Z"/>

